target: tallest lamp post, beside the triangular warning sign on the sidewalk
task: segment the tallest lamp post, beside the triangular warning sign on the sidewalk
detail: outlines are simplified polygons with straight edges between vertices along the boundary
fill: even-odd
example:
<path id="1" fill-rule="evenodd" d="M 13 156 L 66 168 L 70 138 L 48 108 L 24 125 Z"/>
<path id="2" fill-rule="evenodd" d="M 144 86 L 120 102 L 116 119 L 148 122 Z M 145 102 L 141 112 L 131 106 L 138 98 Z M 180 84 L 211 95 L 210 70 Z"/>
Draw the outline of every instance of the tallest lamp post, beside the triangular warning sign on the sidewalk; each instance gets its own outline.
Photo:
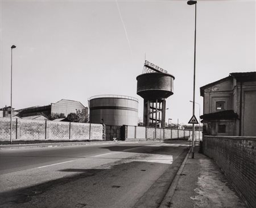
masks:
<path id="1" fill-rule="evenodd" d="M 189 0 L 188 5 L 195 5 L 195 46 L 194 46 L 194 78 L 193 78 L 193 115 L 195 115 L 195 80 L 196 80 L 196 3 L 197 1 Z M 192 133 L 192 159 L 194 158 L 194 134 L 195 134 L 195 124 L 193 125 Z"/>

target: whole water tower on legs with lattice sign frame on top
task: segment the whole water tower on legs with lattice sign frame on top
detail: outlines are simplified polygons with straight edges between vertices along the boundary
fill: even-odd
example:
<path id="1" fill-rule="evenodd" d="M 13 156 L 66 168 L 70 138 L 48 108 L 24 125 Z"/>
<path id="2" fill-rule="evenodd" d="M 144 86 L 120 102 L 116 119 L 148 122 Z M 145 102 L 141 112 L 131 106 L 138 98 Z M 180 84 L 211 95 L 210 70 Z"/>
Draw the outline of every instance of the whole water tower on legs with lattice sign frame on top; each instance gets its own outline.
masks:
<path id="1" fill-rule="evenodd" d="M 144 99 L 144 126 L 165 127 L 166 98 L 174 94 L 175 77 L 145 60 L 143 72 L 136 79 L 137 94 Z"/>

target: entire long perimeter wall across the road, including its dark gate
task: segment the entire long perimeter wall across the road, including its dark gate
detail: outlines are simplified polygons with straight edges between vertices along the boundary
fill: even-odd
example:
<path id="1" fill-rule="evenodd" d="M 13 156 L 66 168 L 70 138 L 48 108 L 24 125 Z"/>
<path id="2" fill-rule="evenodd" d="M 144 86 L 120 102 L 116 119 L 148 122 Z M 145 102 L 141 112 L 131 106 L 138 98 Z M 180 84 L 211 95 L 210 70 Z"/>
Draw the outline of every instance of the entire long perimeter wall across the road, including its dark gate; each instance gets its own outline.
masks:
<path id="1" fill-rule="evenodd" d="M 197 133 L 198 135 L 199 133 Z M 93 123 L 13 120 L 13 141 L 19 140 L 118 140 L 188 139 L 189 131 L 138 126 L 108 126 Z M 196 136 L 198 140 L 198 136 Z M 10 140 L 10 118 L 0 118 L 0 141 Z"/>

